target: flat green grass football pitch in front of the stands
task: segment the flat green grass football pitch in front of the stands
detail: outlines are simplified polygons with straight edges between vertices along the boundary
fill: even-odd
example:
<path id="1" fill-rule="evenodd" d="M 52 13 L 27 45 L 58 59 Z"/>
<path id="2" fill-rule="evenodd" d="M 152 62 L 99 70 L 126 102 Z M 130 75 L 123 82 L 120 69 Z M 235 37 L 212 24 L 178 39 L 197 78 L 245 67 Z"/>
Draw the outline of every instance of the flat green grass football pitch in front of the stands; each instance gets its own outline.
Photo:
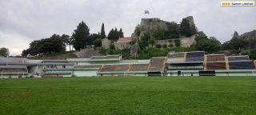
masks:
<path id="1" fill-rule="evenodd" d="M 0 114 L 255 114 L 256 77 L 0 79 Z"/>

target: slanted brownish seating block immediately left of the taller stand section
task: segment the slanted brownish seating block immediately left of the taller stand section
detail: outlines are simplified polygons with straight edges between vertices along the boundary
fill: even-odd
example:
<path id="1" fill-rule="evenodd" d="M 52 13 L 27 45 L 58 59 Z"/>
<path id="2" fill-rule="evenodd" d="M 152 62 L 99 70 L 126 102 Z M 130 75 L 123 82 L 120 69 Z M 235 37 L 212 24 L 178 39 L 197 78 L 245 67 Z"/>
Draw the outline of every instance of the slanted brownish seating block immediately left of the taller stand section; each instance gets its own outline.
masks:
<path id="1" fill-rule="evenodd" d="M 166 57 L 152 57 L 148 71 L 162 71 L 165 66 Z"/>

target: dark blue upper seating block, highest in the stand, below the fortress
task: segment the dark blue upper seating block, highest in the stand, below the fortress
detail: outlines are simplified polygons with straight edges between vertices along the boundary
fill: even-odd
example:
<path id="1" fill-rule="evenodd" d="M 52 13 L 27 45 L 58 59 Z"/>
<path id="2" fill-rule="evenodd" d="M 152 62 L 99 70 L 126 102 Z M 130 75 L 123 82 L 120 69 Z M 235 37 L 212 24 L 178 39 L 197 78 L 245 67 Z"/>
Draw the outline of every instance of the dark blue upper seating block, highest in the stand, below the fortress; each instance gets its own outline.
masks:
<path id="1" fill-rule="evenodd" d="M 186 53 L 186 61 L 204 61 L 205 53 L 203 51 Z"/>

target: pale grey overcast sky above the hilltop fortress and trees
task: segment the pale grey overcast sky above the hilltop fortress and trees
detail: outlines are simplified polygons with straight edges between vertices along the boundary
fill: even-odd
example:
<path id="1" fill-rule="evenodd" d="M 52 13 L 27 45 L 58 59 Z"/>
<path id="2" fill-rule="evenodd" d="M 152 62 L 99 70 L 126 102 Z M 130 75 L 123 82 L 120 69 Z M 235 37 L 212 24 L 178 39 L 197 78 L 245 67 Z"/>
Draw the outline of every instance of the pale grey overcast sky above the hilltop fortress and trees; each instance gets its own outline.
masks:
<path id="1" fill-rule="evenodd" d="M 181 22 L 193 16 L 198 30 L 220 42 L 256 30 L 256 6 L 220 6 L 221 0 L 0 0 L 0 47 L 21 54 L 29 43 L 52 34 L 72 34 L 79 22 L 98 33 L 122 28 L 133 33 L 141 18 Z M 150 14 L 145 16 L 144 10 Z"/>

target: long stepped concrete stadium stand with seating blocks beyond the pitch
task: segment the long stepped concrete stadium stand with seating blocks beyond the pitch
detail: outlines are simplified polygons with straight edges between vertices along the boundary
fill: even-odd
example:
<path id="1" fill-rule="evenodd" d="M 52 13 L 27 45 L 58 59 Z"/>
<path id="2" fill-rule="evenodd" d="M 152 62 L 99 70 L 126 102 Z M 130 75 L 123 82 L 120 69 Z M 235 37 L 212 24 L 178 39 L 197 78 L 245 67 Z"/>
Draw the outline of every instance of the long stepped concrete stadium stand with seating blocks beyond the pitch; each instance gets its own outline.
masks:
<path id="1" fill-rule="evenodd" d="M 30 60 L 0 57 L 1 78 L 101 76 L 255 76 L 256 61 L 248 55 L 225 56 L 204 51 L 170 52 L 150 60 L 122 60 L 119 55 Z"/>

